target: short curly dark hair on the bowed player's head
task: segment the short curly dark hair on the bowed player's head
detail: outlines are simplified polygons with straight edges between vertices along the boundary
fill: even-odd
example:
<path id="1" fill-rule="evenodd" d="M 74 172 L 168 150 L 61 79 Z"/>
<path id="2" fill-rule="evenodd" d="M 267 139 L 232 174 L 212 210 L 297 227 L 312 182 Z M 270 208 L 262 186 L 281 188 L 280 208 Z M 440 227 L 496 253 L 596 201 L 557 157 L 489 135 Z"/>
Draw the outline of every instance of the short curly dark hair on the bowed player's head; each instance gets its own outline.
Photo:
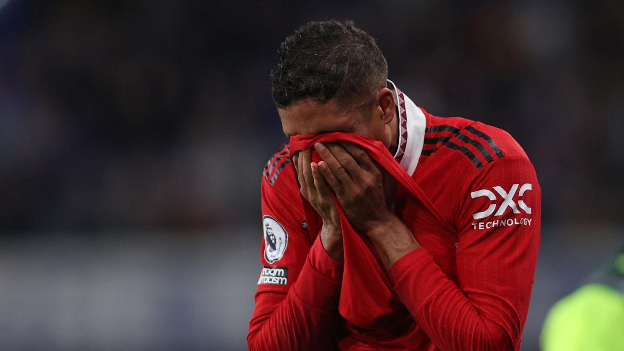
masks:
<path id="1" fill-rule="evenodd" d="M 278 108 L 299 101 L 354 106 L 386 86 L 388 63 L 375 39 L 352 21 L 308 22 L 286 37 L 271 69 Z"/>

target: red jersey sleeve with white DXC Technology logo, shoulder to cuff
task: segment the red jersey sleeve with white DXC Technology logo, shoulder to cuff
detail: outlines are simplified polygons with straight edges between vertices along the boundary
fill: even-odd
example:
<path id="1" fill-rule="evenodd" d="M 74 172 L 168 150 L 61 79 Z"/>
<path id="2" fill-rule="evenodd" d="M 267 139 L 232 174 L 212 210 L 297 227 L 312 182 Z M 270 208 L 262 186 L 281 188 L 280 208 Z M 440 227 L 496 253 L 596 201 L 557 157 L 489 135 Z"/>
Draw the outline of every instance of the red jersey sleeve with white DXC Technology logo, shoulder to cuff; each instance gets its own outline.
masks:
<path id="1" fill-rule="evenodd" d="M 534 167 L 498 159 L 458 193 L 457 282 L 420 247 L 389 270 L 394 289 L 441 350 L 519 350 L 540 240 Z"/>

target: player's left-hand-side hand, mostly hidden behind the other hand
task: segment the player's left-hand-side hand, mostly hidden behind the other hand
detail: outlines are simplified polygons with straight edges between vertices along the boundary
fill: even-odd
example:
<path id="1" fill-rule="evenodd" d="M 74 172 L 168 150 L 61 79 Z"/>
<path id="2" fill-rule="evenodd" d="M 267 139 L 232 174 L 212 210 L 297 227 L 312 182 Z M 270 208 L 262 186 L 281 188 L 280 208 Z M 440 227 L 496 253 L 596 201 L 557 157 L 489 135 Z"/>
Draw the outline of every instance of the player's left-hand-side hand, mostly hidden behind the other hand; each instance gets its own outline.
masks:
<path id="1" fill-rule="evenodd" d="M 312 162 L 312 149 L 297 152 L 293 156 L 297 177 L 299 179 L 301 195 L 321 215 L 323 229 L 321 242 L 332 259 L 343 262 L 343 234 L 340 227 L 340 215 L 331 197 L 329 185 L 321 174 L 318 164 Z"/>

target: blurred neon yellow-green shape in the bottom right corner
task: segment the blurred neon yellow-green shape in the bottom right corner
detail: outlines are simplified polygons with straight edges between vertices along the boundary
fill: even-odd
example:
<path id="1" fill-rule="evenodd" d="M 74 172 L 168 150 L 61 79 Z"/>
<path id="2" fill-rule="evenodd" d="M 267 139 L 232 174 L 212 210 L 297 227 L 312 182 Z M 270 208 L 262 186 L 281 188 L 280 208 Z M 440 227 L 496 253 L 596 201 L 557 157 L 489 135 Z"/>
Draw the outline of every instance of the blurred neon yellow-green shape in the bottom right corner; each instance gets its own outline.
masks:
<path id="1" fill-rule="evenodd" d="M 544 321 L 542 351 L 624 351 L 624 252 L 595 282 L 557 302 Z"/>

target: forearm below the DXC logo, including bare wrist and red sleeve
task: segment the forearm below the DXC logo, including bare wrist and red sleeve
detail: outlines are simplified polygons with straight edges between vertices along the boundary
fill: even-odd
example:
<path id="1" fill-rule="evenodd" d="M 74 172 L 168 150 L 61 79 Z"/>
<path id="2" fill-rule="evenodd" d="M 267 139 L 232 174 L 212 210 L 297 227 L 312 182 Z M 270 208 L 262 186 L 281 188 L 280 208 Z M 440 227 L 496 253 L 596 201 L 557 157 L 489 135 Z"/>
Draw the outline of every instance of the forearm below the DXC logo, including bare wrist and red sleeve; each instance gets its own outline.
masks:
<path id="1" fill-rule="evenodd" d="M 514 349 L 519 340 L 514 326 L 521 322 L 510 313 L 513 307 L 500 302 L 485 307 L 480 299 L 470 300 L 397 217 L 367 234 L 389 271 L 394 291 L 439 349 Z M 508 323 L 503 327 L 504 323 L 489 319 L 490 314 Z"/>

